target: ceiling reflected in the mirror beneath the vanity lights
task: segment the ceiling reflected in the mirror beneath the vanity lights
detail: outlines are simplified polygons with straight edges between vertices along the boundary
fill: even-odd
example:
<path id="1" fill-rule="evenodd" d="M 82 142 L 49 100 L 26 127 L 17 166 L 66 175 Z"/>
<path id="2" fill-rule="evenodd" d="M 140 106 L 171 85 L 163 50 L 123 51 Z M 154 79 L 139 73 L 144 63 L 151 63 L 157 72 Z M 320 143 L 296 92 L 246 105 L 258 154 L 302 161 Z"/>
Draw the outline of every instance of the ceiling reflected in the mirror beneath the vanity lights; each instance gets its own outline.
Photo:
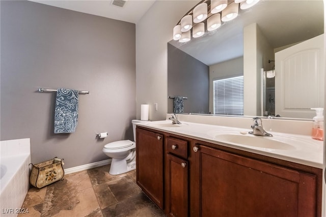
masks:
<path id="1" fill-rule="evenodd" d="M 186 43 L 170 44 L 207 66 L 243 56 L 243 27 L 257 23 L 273 48 L 301 42 L 323 33 L 322 0 L 261 0 L 240 10 L 232 21 Z"/>

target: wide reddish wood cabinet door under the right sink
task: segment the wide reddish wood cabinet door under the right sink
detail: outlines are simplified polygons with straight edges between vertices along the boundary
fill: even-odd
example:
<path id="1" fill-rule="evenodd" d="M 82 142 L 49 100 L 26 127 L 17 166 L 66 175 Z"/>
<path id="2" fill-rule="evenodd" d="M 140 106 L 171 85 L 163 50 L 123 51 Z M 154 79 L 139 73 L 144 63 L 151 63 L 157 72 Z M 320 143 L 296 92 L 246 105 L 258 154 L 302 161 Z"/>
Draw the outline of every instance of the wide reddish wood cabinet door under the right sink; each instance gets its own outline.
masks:
<path id="1" fill-rule="evenodd" d="M 316 176 L 197 146 L 199 216 L 316 216 Z"/>

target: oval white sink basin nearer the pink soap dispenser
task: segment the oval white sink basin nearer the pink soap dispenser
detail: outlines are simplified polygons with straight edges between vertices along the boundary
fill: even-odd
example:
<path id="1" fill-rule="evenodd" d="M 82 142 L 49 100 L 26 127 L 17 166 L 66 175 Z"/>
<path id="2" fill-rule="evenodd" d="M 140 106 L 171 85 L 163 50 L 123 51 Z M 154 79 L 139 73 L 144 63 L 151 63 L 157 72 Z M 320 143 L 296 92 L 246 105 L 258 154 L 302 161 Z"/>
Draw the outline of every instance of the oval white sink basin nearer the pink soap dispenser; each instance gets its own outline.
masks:
<path id="1" fill-rule="evenodd" d="M 210 132 L 210 136 L 214 139 L 225 142 L 235 143 L 238 145 L 246 145 L 251 147 L 265 148 L 265 149 L 278 149 L 278 150 L 293 150 L 296 143 L 302 143 L 303 141 L 295 140 L 293 138 L 274 136 L 255 136 L 243 132 Z"/>

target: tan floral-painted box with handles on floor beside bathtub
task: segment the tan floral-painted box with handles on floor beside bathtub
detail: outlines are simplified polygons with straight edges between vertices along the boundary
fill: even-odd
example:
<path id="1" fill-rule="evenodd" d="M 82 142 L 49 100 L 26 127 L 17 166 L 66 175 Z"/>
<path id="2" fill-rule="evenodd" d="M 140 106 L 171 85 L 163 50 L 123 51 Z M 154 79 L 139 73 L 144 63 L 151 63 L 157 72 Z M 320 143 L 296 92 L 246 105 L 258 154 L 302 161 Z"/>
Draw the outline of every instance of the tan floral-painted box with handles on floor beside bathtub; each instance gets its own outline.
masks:
<path id="1" fill-rule="evenodd" d="M 39 164 L 31 163 L 33 167 L 30 175 L 30 183 L 40 189 L 61 180 L 65 174 L 62 167 L 64 165 L 63 160 L 56 157 Z"/>

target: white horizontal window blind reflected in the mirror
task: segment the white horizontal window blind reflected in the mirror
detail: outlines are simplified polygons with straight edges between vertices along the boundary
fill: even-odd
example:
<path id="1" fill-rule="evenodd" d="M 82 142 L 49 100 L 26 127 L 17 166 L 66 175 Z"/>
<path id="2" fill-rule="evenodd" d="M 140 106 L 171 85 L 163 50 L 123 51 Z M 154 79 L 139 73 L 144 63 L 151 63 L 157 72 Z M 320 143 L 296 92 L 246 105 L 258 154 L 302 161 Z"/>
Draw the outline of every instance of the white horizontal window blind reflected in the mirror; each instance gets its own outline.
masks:
<path id="1" fill-rule="evenodd" d="M 243 76 L 218 79 L 214 85 L 214 114 L 243 115 Z"/>

